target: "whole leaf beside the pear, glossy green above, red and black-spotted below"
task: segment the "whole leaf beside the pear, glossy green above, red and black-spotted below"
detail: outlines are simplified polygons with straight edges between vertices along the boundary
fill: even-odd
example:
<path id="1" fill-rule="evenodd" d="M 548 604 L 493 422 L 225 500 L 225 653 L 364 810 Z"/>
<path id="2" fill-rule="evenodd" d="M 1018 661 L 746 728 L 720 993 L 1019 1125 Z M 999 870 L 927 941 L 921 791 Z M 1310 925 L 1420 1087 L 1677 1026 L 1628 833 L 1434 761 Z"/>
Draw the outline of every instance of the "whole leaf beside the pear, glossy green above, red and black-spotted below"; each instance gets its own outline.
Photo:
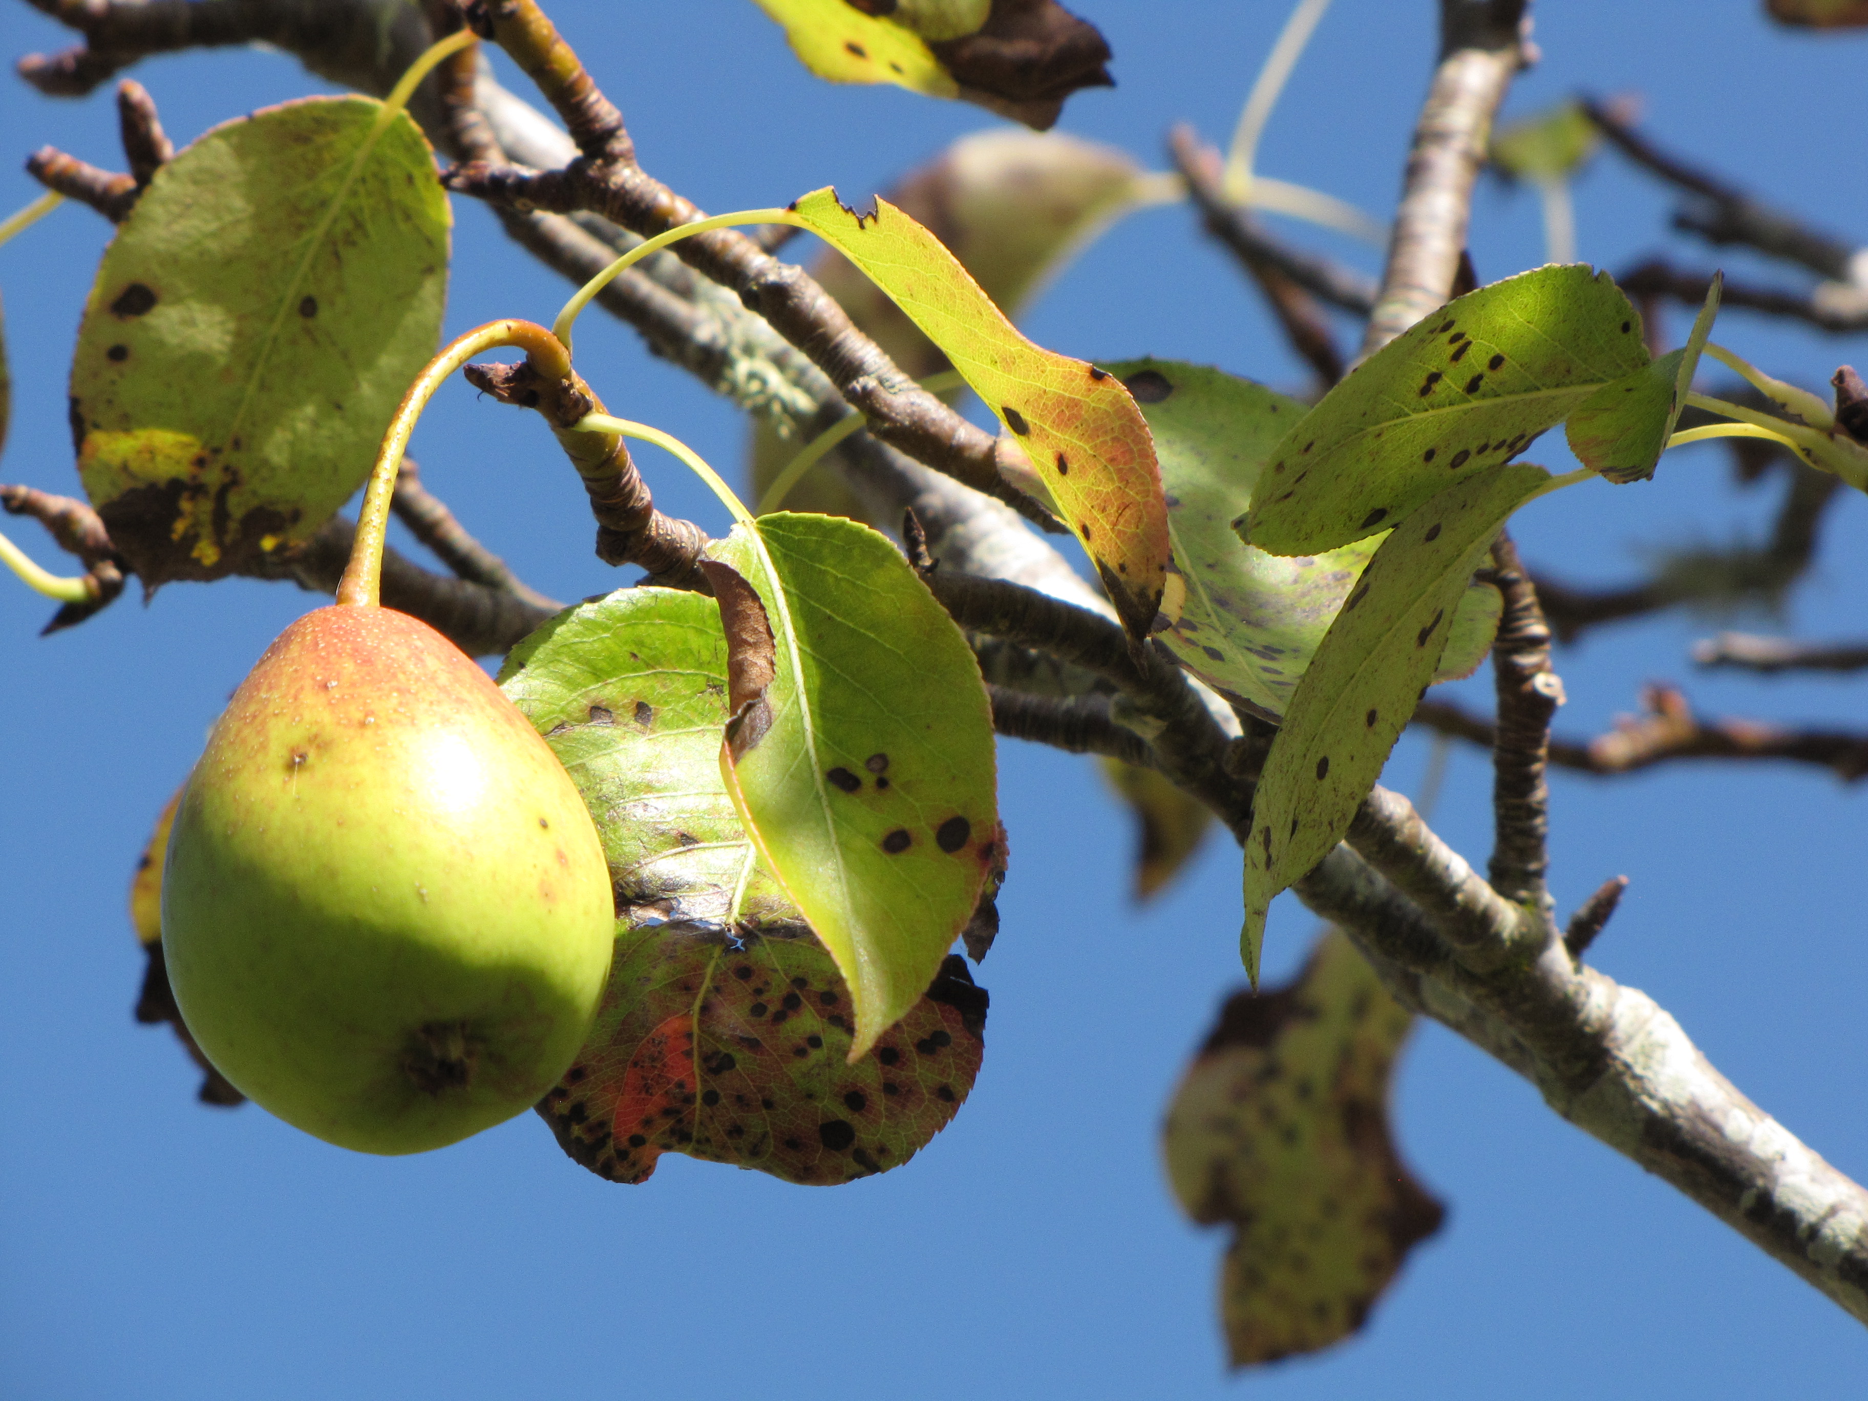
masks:
<path id="1" fill-rule="evenodd" d="M 846 1065 L 842 975 L 727 796 L 729 682 L 719 607 L 672 588 L 568 609 L 501 671 L 583 794 L 616 887 L 603 1007 L 538 1111 L 611 1181 L 641 1182 L 671 1151 L 842 1182 L 947 1125 L 979 1072 L 986 994 L 958 960 L 940 966 Z"/>

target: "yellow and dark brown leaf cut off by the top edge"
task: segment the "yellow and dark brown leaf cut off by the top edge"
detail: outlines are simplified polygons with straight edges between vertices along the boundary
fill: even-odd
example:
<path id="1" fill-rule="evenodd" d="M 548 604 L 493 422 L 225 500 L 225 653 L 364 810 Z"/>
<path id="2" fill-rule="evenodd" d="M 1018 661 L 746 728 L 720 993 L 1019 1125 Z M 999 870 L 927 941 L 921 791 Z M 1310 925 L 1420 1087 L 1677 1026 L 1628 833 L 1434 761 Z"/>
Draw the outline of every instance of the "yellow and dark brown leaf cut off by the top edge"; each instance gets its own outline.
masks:
<path id="1" fill-rule="evenodd" d="M 1080 88 L 1108 88 L 1110 45 L 1057 0 L 758 0 L 829 82 L 962 97 L 1040 131 Z"/>

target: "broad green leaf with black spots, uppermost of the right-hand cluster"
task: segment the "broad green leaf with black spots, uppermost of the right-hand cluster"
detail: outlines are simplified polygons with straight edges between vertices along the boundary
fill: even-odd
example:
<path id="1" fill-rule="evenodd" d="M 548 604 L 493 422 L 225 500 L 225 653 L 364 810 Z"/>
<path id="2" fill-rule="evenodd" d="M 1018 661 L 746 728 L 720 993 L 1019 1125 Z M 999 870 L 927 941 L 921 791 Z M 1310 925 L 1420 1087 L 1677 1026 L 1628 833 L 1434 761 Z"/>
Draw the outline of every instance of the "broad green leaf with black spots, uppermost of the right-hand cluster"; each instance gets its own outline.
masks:
<path id="1" fill-rule="evenodd" d="M 1541 267 L 1468 291 L 1285 433 L 1242 534 L 1308 555 L 1394 527 L 1646 364 L 1640 316 L 1606 273 Z"/>

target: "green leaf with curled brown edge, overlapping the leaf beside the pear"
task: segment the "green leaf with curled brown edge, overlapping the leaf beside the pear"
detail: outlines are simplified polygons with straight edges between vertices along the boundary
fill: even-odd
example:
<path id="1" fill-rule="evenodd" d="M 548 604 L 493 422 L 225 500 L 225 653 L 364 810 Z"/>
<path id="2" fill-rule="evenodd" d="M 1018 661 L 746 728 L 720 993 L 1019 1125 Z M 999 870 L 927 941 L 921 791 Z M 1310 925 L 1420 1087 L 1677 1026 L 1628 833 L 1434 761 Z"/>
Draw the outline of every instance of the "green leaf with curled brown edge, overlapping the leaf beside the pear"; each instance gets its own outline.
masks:
<path id="1" fill-rule="evenodd" d="M 856 996 L 861 1055 L 1003 870 L 986 691 L 966 637 L 869 527 L 764 516 L 710 553 L 730 661 L 721 771 Z"/>

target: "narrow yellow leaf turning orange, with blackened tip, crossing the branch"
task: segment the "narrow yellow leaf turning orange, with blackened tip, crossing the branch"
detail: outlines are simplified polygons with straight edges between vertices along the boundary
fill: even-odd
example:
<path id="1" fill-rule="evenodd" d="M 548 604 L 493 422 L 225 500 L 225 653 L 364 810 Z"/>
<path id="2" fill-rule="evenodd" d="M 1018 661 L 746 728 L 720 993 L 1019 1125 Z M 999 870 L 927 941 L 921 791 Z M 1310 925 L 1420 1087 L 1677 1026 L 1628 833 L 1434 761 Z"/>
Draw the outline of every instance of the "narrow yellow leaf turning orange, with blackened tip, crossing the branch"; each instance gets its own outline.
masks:
<path id="1" fill-rule="evenodd" d="M 1121 381 L 1018 334 L 945 245 L 887 200 L 857 215 L 822 189 L 792 213 L 966 375 L 1050 488 L 1130 637 L 1145 639 L 1168 581 L 1168 506 L 1149 426 Z"/>

